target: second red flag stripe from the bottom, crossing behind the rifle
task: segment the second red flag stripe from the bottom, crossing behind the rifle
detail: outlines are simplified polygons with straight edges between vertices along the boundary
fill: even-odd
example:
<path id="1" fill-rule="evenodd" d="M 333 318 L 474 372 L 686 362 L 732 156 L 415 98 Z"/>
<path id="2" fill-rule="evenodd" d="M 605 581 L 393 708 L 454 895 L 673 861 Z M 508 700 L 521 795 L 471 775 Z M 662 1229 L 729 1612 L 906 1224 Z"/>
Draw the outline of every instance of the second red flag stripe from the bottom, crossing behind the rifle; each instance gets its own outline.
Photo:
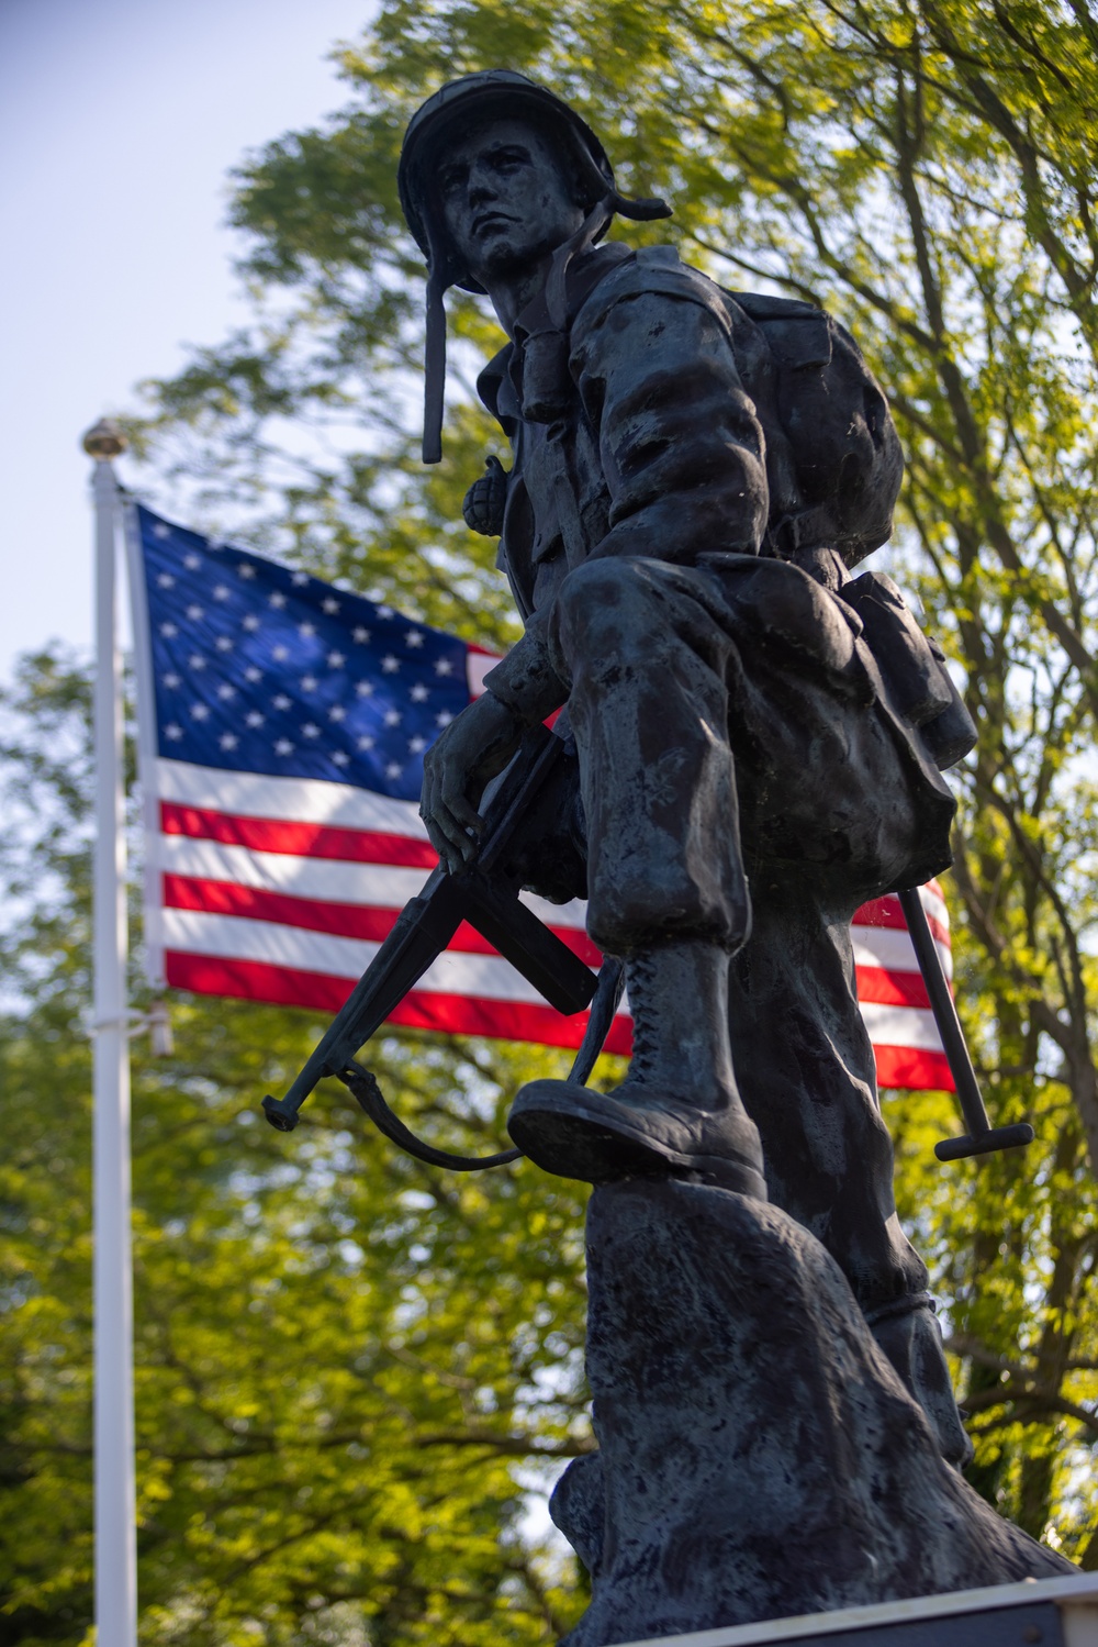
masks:
<path id="1" fill-rule="evenodd" d="M 267 888 L 242 886 L 239 881 L 211 881 L 196 875 L 165 875 L 163 906 L 165 909 L 199 909 L 216 916 L 244 916 L 249 921 L 273 921 L 278 926 L 329 932 L 333 937 L 367 939 L 374 944 L 388 937 L 400 914 L 398 909 L 380 909 L 374 904 L 337 904 L 321 898 L 295 898 L 291 893 L 272 893 Z M 601 952 L 579 927 L 550 927 L 550 931 L 589 967 L 601 967 Z M 464 955 L 499 954 L 466 921 L 461 922 L 446 947 Z"/>

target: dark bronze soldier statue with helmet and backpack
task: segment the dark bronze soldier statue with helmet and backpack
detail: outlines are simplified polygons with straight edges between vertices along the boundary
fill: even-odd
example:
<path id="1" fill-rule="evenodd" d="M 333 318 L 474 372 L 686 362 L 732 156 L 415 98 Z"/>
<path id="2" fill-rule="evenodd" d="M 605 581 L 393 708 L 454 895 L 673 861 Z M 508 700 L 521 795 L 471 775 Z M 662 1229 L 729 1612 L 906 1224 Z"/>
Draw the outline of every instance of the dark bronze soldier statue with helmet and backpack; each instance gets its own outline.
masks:
<path id="1" fill-rule="evenodd" d="M 635 1024 L 616 1090 L 535 1080 L 512 1136 L 593 1184 L 769 1196 L 840 1263 L 960 1464 L 849 937 L 866 899 L 948 866 L 940 768 L 975 736 L 896 586 L 851 578 L 892 527 L 886 399 L 821 310 L 603 240 L 616 212 L 667 208 L 619 194 L 589 127 L 520 74 L 433 96 L 400 194 L 430 267 L 428 461 L 446 288 L 487 293 L 510 339 L 479 392 L 514 468 L 489 460 L 466 519 L 500 535 L 525 621 L 430 751 L 421 812 L 441 858 L 469 861 L 484 786 L 565 707 L 578 781 L 530 884 L 588 898 Z"/>

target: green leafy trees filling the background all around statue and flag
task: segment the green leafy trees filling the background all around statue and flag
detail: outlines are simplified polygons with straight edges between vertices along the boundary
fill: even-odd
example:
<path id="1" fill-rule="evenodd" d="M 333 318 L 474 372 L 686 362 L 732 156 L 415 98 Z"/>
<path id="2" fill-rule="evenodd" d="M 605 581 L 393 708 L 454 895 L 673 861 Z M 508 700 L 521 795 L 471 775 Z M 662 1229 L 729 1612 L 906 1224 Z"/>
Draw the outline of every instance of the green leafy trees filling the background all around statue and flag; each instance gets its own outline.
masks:
<path id="1" fill-rule="evenodd" d="M 825 303 L 891 395 L 909 469 L 877 563 L 920 595 L 981 733 L 955 774 L 958 1001 L 993 1118 L 1039 1131 L 943 1169 L 950 1103 L 891 1095 L 900 1209 L 945 1304 L 971 1479 L 1098 1565 L 1098 21 L 1086 0 L 385 0 L 341 54 L 347 107 L 235 176 L 255 323 L 151 385 L 133 430 L 176 514 L 504 644 L 492 545 L 459 512 L 500 451 L 472 392 L 499 333 L 451 295 L 446 461 L 423 471 L 423 270 L 395 194 L 412 110 L 499 64 L 575 100 L 629 191 L 675 203 L 622 237 Z M 12 756 L 51 796 L 3 1043 L 12 1640 L 79 1639 L 58 1621 L 87 1584 L 82 825 L 41 753 L 76 695 L 31 670 Z M 239 1115 L 316 1026 L 176 1015 L 176 1061 L 137 1089 L 148 1639 L 341 1639 L 344 1603 L 372 1642 L 547 1639 L 578 1601 L 527 1553 L 514 1461 L 588 1444 L 578 1199 L 528 1168 L 428 1181 L 337 1099 L 275 1148 Z M 397 1036 L 382 1054 L 453 1136 L 497 1135 L 532 1061 Z"/>

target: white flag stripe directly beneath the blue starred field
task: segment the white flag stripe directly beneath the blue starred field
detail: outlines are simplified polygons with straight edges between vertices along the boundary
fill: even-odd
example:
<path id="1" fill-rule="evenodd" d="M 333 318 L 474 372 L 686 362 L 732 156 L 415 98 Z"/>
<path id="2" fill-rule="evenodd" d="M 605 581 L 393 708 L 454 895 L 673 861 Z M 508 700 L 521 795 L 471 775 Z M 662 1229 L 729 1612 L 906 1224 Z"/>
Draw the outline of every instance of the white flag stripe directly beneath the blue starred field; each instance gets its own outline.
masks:
<path id="1" fill-rule="evenodd" d="M 160 759 L 156 784 L 161 800 L 179 805 L 290 824 L 370 828 L 426 840 L 415 800 L 390 800 L 388 796 L 356 789 L 354 784 L 329 784 L 323 777 L 263 777 Z"/>

